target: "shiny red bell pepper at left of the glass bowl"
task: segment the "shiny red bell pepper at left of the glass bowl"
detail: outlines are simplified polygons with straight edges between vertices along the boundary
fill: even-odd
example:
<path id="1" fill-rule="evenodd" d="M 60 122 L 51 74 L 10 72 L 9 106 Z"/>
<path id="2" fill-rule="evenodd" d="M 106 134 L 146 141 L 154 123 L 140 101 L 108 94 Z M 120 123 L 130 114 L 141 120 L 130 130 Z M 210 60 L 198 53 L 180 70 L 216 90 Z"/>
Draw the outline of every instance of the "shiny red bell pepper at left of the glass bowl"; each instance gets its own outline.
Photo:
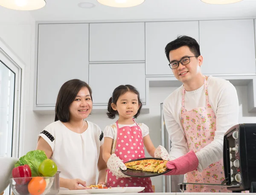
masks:
<path id="1" fill-rule="evenodd" d="M 17 178 L 14 179 L 16 184 L 25 185 L 29 183 L 31 180 L 31 178 L 29 178 L 31 177 L 31 169 L 29 165 L 25 164 L 23 166 L 15 167 L 12 170 L 12 177 Z"/>

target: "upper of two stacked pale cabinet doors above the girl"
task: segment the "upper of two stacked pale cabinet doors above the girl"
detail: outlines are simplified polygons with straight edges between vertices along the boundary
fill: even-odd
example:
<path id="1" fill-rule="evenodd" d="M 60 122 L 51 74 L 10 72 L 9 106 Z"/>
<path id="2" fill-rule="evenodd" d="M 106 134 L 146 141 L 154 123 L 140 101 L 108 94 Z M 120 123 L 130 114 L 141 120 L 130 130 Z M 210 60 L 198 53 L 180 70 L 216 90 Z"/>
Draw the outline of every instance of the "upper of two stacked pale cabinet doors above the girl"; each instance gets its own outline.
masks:
<path id="1" fill-rule="evenodd" d="M 90 62 L 145 61 L 145 23 L 90 24 Z"/>

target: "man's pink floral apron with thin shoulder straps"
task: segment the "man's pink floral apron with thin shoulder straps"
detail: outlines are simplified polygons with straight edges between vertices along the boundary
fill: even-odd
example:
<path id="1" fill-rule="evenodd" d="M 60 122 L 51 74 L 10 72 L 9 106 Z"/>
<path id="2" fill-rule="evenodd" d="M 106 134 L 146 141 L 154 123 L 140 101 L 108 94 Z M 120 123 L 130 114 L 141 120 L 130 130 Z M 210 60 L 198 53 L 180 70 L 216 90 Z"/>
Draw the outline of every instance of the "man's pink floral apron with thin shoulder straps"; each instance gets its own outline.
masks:
<path id="1" fill-rule="evenodd" d="M 190 111 L 185 109 L 185 88 L 182 96 L 181 123 L 186 135 L 189 151 L 195 153 L 210 144 L 215 136 L 216 116 L 209 103 L 207 82 L 204 76 L 204 90 L 206 96 L 205 107 L 197 107 Z M 203 172 L 192 171 L 185 174 L 185 183 L 188 184 L 186 192 L 231 192 L 226 187 L 211 186 L 204 184 L 221 184 L 224 180 L 223 159 L 212 163 Z M 200 185 L 202 184 L 202 185 Z"/>

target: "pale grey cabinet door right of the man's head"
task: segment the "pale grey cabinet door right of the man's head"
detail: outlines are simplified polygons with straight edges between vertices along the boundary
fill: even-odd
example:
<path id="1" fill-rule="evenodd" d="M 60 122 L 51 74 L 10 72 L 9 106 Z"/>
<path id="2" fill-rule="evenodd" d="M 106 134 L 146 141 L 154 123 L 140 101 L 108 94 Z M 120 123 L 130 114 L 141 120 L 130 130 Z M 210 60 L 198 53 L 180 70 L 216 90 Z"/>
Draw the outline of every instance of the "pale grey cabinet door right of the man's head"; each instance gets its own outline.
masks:
<path id="1" fill-rule="evenodd" d="M 204 74 L 255 73 L 253 20 L 200 21 Z"/>

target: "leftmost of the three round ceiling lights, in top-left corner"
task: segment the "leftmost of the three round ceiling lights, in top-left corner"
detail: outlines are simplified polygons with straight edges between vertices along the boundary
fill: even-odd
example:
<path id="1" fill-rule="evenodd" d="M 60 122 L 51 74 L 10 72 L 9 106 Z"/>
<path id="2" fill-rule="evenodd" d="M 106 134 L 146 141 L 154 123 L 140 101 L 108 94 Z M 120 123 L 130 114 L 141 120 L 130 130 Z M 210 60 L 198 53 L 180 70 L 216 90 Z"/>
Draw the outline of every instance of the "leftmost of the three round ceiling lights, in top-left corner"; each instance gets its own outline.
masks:
<path id="1" fill-rule="evenodd" d="M 15 10 L 35 10 L 46 5 L 45 0 L 0 0 L 0 6 Z"/>

